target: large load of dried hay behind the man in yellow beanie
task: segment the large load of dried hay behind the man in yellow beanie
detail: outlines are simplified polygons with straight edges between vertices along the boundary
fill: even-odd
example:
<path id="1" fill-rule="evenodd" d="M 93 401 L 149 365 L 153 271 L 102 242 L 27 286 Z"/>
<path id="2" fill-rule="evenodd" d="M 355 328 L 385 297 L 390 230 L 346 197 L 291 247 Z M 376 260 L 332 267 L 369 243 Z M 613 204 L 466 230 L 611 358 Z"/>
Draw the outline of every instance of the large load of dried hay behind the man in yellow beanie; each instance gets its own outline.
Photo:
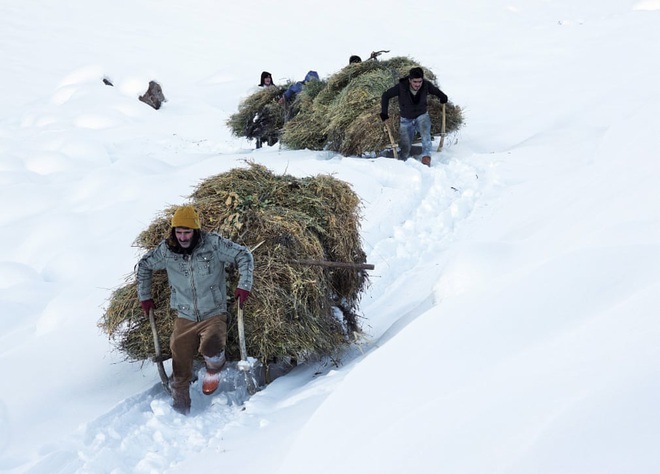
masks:
<path id="1" fill-rule="evenodd" d="M 261 361 L 337 357 L 360 330 L 356 309 L 368 283 L 366 272 L 294 261 L 365 262 L 359 236 L 361 204 L 350 186 L 324 175 L 276 176 L 250 163 L 203 181 L 190 203 L 199 211 L 203 229 L 254 249 L 254 286 L 244 314 L 248 354 Z M 145 251 L 158 245 L 169 232 L 175 207 L 153 221 L 136 245 Z M 233 295 L 236 271 L 230 271 L 229 280 L 227 292 Z M 169 309 L 164 272 L 155 273 L 152 293 L 163 355 L 169 357 L 176 315 Z M 235 305 L 229 309 L 235 321 Z M 154 356 L 134 276 L 113 292 L 99 326 L 129 360 Z M 233 323 L 227 354 L 230 360 L 240 358 Z"/>

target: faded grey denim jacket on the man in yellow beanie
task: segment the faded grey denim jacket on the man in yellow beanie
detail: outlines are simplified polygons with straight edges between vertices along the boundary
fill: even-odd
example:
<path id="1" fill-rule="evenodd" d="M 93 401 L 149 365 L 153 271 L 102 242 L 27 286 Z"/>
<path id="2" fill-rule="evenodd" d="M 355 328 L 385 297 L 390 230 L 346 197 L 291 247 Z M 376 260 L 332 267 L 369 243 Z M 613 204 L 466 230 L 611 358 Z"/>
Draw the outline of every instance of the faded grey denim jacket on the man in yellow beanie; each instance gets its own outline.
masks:
<path id="1" fill-rule="evenodd" d="M 151 299 L 154 270 L 166 270 L 170 286 L 170 307 L 180 318 L 202 321 L 227 312 L 225 264 L 240 272 L 238 287 L 250 291 L 254 260 L 249 249 L 215 232 L 201 232 L 190 255 L 172 252 L 165 240 L 137 264 L 137 291 L 140 301 Z"/>

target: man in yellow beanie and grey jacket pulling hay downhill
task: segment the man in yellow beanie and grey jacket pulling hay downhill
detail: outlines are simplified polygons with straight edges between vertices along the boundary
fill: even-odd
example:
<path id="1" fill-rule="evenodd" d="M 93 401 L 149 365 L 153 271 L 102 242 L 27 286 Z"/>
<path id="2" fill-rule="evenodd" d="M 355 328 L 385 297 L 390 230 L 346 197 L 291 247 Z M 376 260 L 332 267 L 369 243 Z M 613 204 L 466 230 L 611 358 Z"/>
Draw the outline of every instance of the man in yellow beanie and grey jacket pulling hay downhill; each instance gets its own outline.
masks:
<path id="1" fill-rule="evenodd" d="M 241 307 L 250 295 L 254 260 L 250 250 L 215 232 L 201 230 L 192 206 L 179 207 L 172 216 L 170 236 L 140 259 L 138 298 L 146 314 L 154 307 L 151 283 L 154 270 L 166 270 L 170 307 L 177 312 L 170 337 L 172 351 L 172 407 L 190 412 L 193 359 L 199 352 L 206 371 L 202 391 L 215 392 L 225 364 L 227 342 L 226 264 L 235 265 L 240 278 L 234 296 Z"/>

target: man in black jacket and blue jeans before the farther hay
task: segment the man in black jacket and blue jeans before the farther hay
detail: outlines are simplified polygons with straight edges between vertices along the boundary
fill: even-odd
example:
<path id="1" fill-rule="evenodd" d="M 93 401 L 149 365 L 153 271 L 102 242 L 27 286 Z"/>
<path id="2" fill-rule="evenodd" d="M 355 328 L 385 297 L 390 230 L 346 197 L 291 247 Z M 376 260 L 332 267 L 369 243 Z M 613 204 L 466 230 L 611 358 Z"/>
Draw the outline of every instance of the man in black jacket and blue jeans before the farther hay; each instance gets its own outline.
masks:
<path id="1" fill-rule="evenodd" d="M 399 98 L 399 111 L 401 120 L 399 123 L 399 146 L 401 154 L 399 158 L 407 160 L 410 156 L 415 132 L 422 137 L 422 163 L 431 166 L 431 117 L 428 113 L 428 95 L 434 95 L 440 99 L 441 104 L 449 100 L 447 94 L 438 89 L 433 83 L 424 79 L 424 70 L 414 67 L 408 76 L 399 80 L 394 87 L 383 92 L 381 97 L 380 118 L 384 121 L 389 119 L 387 109 L 390 99 Z"/>

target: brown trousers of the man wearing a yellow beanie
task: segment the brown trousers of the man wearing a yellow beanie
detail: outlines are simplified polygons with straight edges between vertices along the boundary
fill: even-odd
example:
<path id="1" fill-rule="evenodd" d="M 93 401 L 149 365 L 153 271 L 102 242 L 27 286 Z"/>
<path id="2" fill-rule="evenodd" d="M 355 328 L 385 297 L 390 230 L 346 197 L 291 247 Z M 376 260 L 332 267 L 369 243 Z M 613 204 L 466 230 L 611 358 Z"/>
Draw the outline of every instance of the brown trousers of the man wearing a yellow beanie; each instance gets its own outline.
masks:
<path id="1" fill-rule="evenodd" d="M 212 316 L 200 322 L 176 318 L 170 337 L 172 389 L 188 390 L 192 380 L 193 359 L 197 352 L 206 357 L 215 357 L 225 350 L 226 342 L 226 314 Z"/>

